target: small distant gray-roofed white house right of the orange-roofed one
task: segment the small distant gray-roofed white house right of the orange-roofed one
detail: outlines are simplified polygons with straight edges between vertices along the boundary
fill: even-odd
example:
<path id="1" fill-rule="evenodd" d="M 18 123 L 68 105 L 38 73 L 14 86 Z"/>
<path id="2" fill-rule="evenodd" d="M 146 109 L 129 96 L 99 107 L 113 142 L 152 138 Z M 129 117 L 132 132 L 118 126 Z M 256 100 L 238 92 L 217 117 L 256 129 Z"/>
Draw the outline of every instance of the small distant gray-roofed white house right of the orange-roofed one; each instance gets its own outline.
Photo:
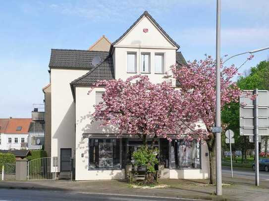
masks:
<path id="1" fill-rule="evenodd" d="M 31 122 L 28 133 L 28 149 L 41 150 L 44 146 L 44 123 Z"/>

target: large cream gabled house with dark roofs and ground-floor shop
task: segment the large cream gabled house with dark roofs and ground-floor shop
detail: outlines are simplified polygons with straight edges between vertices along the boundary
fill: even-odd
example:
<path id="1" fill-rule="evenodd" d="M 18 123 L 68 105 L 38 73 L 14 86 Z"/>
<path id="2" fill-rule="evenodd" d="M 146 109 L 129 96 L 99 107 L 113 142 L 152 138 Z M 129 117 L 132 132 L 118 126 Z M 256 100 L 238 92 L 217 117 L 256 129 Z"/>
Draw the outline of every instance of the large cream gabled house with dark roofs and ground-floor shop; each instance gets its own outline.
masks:
<path id="1" fill-rule="evenodd" d="M 71 171 L 70 158 L 75 158 L 76 180 L 124 178 L 126 161 L 142 146 L 136 136 L 118 135 L 113 127 L 91 123 L 94 105 L 102 100 L 104 92 L 103 87 L 93 84 L 97 80 L 126 80 L 137 74 L 147 75 L 152 82 L 160 83 L 165 74 L 171 75 L 171 65 L 186 64 L 181 52 L 177 51 L 179 45 L 147 11 L 111 43 L 109 49 L 94 49 L 104 46 L 99 45 L 103 40 L 105 38 L 89 50 L 52 49 L 50 103 L 43 89 L 46 104 L 51 104 L 45 115 L 51 113 L 51 137 L 45 136 L 45 147 L 50 145 L 51 157 L 58 157 L 56 172 Z M 171 81 L 177 87 L 173 78 Z M 90 89 L 93 90 L 88 95 Z M 47 130 L 45 132 L 47 135 Z M 186 143 L 172 135 L 171 138 L 172 142 L 160 138 L 156 144 L 164 162 L 163 177 L 208 178 L 207 145 L 195 140 Z"/>

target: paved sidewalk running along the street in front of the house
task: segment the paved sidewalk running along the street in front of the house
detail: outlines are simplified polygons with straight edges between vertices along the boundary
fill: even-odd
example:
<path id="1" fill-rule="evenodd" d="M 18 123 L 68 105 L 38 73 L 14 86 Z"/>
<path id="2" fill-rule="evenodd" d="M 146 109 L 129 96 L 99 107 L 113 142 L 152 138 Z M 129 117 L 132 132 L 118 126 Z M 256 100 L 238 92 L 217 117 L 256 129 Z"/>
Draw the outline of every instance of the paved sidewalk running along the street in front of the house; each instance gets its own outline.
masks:
<path id="1" fill-rule="evenodd" d="M 215 196 L 215 186 L 207 180 L 160 180 L 169 185 L 162 189 L 134 189 L 128 183 L 118 180 L 109 181 L 1 181 L 0 188 L 36 189 L 68 191 L 76 193 L 117 194 L 135 196 L 156 196 L 169 198 L 190 198 L 216 201 L 268 201 L 269 189 L 243 184 L 223 186 L 223 196 Z"/>

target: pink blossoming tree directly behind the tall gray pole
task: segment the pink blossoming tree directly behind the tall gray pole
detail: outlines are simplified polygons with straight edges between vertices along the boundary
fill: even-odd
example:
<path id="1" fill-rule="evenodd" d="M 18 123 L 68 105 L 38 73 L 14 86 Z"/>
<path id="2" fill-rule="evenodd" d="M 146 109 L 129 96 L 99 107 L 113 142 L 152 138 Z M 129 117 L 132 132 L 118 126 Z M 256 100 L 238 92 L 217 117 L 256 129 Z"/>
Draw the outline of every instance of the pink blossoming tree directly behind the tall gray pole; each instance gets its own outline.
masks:
<path id="1" fill-rule="evenodd" d="M 190 107 L 195 110 L 195 117 L 202 120 L 208 135 L 204 135 L 210 157 L 210 183 L 216 181 L 215 175 L 215 60 L 207 56 L 205 60 L 188 62 L 186 66 L 172 66 L 173 77 L 179 82 L 181 94 L 187 97 Z M 232 78 L 238 75 L 233 65 L 221 66 L 221 110 L 230 102 L 238 102 L 240 88 Z M 223 128 L 223 127 L 222 127 Z"/>

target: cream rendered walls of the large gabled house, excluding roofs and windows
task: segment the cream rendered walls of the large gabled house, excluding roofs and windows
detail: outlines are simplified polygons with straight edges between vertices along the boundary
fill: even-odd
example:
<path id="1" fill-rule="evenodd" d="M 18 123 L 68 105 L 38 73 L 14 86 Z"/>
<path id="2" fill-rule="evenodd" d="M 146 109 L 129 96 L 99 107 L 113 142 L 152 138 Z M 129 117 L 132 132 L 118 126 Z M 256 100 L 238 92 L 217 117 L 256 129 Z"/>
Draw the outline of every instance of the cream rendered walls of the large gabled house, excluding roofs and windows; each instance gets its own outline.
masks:
<path id="1" fill-rule="evenodd" d="M 147 31 L 145 30 L 147 29 Z M 147 75 L 153 83 L 163 81 L 164 75 L 170 75 L 170 66 L 176 63 L 176 50 L 178 47 L 161 32 L 156 24 L 147 15 L 132 27 L 110 48 L 113 58 L 114 78 L 126 80 L 130 76 L 143 74 L 141 69 L 141 54 L 150 55 L 150 72 Z M 136 72 L 127 71 L 127 54 L 136 55 Z M 155 55 L 163 57 L 162 73 L 155 70 Z M 91 123 L 96 92 L 104 91 L 102 87 L 80 85 L 74 87 L 74 94 L 70 88 L 73 80 L 85 75 L 88 70 L 51 69 L 51 95 L 52 95 L 52 137 L 51 156 L 58 157 L 56 172 L 61 170 L 60 151 L 71 148 L 71 157 L 75 158 L 75 180 L 102 180 L 125 178 L 124 167 L 118 169 L 91 169 L 89 168 L 89 139 L 112 138 L 117 134 L 116 127 L 100 127 L 99 122 Z M 171 79 L 175 86 L 175 80 Z M 89 90 L 91 90 L 88 95 Z M 92 135 L 93 138 L 83 134 Z M 120 143 L 122 141 L 120 140 Z M 120 148 L 122 149 L 122 148 Z M 122 151 L 122 150 L 121 150 Z M 164 169 L 166 178 L 200 179 L 209 177 L 209 157 L 206 144 L 201 146 L 200 168 L 195 169 Z"/>

